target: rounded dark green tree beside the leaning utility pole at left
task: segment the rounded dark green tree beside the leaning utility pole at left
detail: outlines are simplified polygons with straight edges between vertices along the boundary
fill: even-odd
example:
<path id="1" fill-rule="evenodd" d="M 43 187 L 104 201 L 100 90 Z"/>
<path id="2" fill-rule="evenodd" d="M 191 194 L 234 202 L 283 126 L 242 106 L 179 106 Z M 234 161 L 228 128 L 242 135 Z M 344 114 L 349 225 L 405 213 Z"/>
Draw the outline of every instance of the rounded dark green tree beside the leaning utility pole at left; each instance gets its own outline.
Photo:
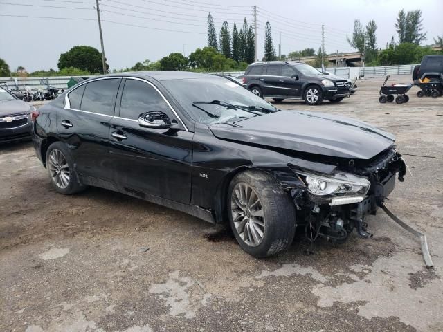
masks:
<path id="1" fill-rule="evenodd" d="M 74 46 L 60 55 L 57 66 L 59 69 L 73 67 L 89 73 L 103 73 L 102 53 L 91 46 Z M 108 68 L 106 64 L 106 69 Z"/>

